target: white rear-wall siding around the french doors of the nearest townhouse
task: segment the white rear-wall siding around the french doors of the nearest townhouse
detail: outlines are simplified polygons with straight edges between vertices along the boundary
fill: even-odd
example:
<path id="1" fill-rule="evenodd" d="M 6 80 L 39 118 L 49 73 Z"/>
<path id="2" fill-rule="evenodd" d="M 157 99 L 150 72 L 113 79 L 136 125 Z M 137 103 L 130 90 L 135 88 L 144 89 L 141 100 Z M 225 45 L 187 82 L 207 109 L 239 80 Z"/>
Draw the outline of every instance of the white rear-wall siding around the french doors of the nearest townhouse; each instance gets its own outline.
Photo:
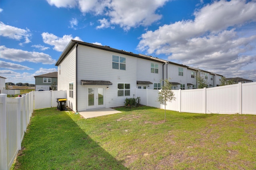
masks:
<path id="1" fill-rule="evenodd" d="M 112 55 L 126 58 L 126 70 L 112 69 Z M 81 80 L 106 80 L 106 107 L 124 106 L 126 98 L 135 97 L 136 57 L 78 45 L 78 111 L 86 110 L 86 86 Z M 117 96 L 117 84 L 130 84 L 130 96 Z"/>

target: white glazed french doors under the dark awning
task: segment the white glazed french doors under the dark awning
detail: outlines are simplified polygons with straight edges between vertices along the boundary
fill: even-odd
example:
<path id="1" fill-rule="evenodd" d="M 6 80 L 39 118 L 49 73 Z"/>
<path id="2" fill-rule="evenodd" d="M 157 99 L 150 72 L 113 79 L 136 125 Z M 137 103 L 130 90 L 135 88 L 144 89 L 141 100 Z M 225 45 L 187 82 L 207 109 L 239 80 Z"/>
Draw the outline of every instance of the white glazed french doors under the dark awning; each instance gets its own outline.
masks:
<path id="1" fill-rule="evenodd" d="M 105 107 L 105 87 L 86 88 L 87 109 Z"/>

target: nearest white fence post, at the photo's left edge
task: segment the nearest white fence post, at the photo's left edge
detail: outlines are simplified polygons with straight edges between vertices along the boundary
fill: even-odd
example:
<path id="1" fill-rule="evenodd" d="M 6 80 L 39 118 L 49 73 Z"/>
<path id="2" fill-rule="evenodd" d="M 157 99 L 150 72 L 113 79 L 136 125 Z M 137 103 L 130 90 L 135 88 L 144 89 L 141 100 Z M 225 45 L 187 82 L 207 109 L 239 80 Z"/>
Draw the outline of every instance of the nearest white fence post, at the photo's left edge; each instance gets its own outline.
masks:
<path id="1" fill-rule="evenodd" d="M 0 94 L 0 170 L 7 170 L 6 104 L 7 94 Z"/>

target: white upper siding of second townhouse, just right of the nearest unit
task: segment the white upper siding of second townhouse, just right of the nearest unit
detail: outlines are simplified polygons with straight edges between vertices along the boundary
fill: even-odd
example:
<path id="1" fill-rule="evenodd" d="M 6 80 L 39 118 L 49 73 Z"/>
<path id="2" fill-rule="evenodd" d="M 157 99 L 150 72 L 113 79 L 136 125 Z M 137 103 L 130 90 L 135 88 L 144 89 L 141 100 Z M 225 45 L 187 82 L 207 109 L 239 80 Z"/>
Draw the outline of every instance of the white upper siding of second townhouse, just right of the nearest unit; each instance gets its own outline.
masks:
<path id="1" fill-rule="evenodd" d="M 149 81 L 153 84 L 138 84 L 138 86 L 146 86 L 148 89 L 154 89 L 154 83 L 160 83 L 160 80 L 163 78 L 163 64 L 156 61 L 137 59 L 137 80 L 138 81 Z M 151 73 L 151 63 L 158 64 L 158 73 Z M 149 87 L 148 87 L 149 86 Z"/>

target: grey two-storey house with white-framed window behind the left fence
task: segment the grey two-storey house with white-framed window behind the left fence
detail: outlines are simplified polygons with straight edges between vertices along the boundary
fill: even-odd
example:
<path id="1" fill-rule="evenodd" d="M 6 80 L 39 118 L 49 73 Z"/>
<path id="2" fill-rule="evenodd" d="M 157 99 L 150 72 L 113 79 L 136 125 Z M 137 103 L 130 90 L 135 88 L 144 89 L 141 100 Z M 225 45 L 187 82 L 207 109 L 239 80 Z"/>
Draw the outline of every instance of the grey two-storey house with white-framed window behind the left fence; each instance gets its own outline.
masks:
<path id="1" fill-rule="evenodd" d="M 36 91 L 44 90 L 49 91 L 51 89 L 51 85 L 56 82 L 56 86 L 58 85 L 58 72 L 50 72 L 47 74 L 42 74 L 38 76 L 34 76 L 36 79 Z"/>

